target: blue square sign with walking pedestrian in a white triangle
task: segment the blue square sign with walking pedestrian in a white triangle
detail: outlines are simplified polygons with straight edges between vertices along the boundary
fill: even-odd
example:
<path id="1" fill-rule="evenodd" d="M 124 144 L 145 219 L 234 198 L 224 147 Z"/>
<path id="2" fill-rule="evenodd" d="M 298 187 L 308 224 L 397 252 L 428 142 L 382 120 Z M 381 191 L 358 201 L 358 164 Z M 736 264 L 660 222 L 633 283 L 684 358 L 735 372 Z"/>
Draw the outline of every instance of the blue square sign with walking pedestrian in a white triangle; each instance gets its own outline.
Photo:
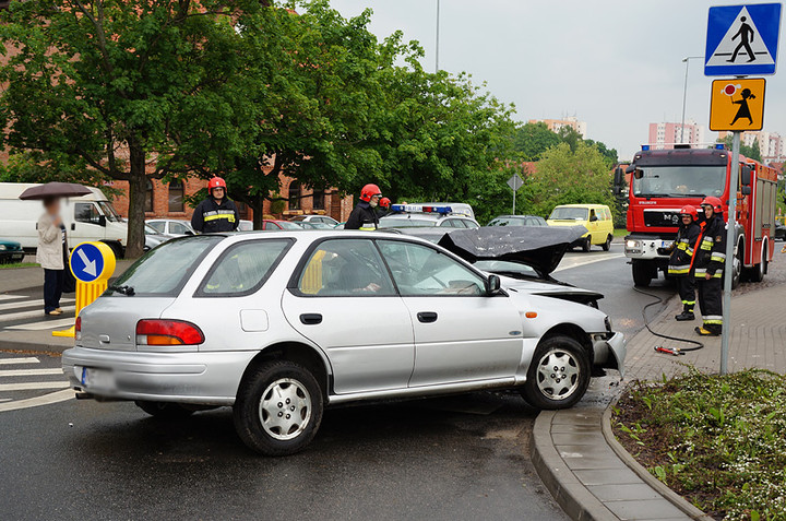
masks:
<path id="1" fill-rule="evenodd" d="M 710 8 L 704 75 L 774 74 L 781 4 Z"/>

